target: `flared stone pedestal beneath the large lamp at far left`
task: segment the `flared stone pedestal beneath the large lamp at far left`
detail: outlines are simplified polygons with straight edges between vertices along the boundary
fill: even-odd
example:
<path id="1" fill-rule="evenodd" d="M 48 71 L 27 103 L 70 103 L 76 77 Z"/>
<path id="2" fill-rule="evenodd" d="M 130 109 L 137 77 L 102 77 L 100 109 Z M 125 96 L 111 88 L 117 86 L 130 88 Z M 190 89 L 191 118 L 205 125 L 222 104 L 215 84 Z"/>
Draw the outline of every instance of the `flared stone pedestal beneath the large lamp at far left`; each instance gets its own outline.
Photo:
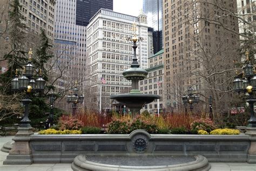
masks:
<path id="1" fill-rule="evenodd" d="M 32 127 L 19 127 L 18 133 L 12 139 L 15 141 L 14 147 L 9 152 L 4 165 L 30 165 L 33 163 L 32 153 L 29 146 Z"/>

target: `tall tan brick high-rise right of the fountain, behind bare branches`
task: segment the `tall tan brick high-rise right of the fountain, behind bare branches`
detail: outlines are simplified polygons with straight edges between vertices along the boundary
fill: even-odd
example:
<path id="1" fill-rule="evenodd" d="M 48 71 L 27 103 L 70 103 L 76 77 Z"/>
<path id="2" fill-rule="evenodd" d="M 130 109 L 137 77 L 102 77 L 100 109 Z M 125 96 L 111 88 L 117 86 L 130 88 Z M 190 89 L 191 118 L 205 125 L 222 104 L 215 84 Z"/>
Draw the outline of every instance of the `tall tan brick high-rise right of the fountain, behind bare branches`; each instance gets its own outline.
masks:
<path id="1" fill-rule="evenodd" d="M 223 102 L 229 98 L 224 92 L 232 85 L 225 80 L 233 77 L 228 70 L 233 69 L 233 60 L 238 57 L 238 20 L 226 15 L 218 5 L 236 11 L 234 0 L 217 5 L 188 0 L 163 2 L 165 93 L 167 103 L 175 110 L 182 106 L 181 96 L 189 86 L 201 94 L 203 102 L 207 103 L 212 95 L 218 108 L 228 105 Z M 222 74 L 215 74 L 218 72 Z"/>

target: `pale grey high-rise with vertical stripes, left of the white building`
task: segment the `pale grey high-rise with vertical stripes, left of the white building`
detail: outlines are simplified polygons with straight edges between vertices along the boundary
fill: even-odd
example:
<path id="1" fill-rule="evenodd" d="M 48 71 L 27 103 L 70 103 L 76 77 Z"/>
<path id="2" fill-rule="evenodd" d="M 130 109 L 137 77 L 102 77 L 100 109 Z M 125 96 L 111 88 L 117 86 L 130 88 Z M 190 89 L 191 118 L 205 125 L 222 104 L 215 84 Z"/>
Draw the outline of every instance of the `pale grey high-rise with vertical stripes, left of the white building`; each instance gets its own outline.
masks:
<path id="1" fill-rule="evenodd" d="M 54 49 L 56 67 L 51 77 L 57 78 L 57 91 L 78 82 L 79 92 L 84 91 L 84 73 L 86 56 L 86 27 L 76 25 L 76 1 L 57 0 Z M 65 100 L 59 101 L 58 107 L 70 110 Z"/>

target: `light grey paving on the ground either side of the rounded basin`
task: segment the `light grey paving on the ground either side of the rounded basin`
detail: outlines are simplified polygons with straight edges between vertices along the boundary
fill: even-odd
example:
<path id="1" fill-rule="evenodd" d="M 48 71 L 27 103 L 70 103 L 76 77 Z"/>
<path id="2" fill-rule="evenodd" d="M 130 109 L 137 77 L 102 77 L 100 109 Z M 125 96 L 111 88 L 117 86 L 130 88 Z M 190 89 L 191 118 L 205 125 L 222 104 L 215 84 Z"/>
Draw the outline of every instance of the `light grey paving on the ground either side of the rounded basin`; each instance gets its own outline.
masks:
<path id="1" fill-rule="evenodd" d="M 4 143 L 11 141 L 14 136 L 0 136 L 0 147 L 4 145 Z M 71 171 L 71 164 L 64 163 L 56 163 L 56 164 L 32 164 L 32 165 L 3 165 L 3 161 L 6 159 L 8 153 L 4 153 L 0 151 L 0 170 L 1 171 Z M 228 170 L 255 170 L 256 171 L 256 163 L 214 163 L 211 162 L 211 171 L 228 171 Z"/>

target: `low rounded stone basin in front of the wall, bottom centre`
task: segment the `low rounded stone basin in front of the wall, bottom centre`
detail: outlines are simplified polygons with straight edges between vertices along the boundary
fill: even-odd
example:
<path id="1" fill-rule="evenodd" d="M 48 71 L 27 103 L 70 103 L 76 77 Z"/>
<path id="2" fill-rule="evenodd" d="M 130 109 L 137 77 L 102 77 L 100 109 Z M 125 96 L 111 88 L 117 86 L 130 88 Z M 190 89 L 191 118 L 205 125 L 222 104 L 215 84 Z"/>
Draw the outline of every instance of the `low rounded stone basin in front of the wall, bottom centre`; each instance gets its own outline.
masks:
<path id="1" fill-rule="evenodd" d="M 86 156 L 78 155 L 73 170 L 209 170 L 202 155 L 194 156 Z"/>

